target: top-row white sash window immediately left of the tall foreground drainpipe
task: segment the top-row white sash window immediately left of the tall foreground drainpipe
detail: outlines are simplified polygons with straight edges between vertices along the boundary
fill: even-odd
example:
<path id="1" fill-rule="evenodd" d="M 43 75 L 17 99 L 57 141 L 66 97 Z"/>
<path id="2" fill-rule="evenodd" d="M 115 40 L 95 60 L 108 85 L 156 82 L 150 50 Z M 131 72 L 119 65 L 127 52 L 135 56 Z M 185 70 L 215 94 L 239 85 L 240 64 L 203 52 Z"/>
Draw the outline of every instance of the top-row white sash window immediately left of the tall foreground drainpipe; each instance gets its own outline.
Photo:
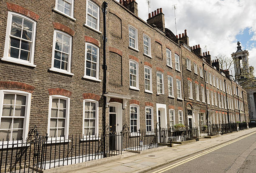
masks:
<path id="1" fill-rule="evenodd" d="M 86 19 L 87 26 L 97 31 L 100 30 L 100 8 L 91 0 L 87 0 Z"/>

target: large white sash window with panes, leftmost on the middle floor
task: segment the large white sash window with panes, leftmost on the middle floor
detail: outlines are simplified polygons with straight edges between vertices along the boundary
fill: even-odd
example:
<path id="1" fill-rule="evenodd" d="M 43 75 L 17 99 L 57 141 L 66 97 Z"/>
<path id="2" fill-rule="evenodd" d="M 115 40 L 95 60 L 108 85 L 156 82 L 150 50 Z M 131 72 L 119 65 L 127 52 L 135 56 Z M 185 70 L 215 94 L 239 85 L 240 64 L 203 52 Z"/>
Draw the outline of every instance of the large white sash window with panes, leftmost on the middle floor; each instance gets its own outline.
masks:
<path id="1" fill-rule="evenodd" d="M 34 65 L 36 22 L 31 18 L 8 12 L 4 56 L 1 60 Z"/>

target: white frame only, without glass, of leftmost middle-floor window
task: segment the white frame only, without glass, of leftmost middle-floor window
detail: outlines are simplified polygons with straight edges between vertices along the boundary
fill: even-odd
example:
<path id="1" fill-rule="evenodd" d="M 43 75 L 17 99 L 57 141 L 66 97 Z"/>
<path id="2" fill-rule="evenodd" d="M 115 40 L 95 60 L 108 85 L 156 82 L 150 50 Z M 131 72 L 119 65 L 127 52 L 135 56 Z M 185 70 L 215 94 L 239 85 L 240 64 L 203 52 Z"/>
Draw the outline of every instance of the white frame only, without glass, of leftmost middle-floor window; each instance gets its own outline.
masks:
<path id="1" fill-rule="evenodd" d="M 30 47 L 29 61 L 21 60 L 21 59 L 17 59 L 17 58 L 12 58 L 12 57 L 8 56 L 9 44 L 10 44 L 11 23 L 12 23 L 13 15 L 16 15 L 20 18 L 24 18 L 24 19 L 29 20 L 30 22 L 33 23 L 33 31 L 32 31 L 33 35 L 32 35 L 32 39 L 31 39 L 32 44 L 31 44 L 31 47 Z M 1 60 L 11 62 L 11 63 L 17 63 L 17 64 L 21 64 L 21 65 L 27 65 L 27 66 L 31 66 L 31 67 L 36 67 L 36 65 L 34 64 L 34 53 L 35 53 L 35 43 L 36 43 L 36 24 L 37 24 L 36 21 L 32 20 L 31 18 L 28 18 L 25 15 L 8 11 L 6 35 L 5 35 L 5 49 L 4 49 L 3 58 L 1 58 Z M 15 36 L 13 36 L 13 38 L 15 38 Z M 23 39 L 21 38 L 21 40 L 23 40 Z"/>

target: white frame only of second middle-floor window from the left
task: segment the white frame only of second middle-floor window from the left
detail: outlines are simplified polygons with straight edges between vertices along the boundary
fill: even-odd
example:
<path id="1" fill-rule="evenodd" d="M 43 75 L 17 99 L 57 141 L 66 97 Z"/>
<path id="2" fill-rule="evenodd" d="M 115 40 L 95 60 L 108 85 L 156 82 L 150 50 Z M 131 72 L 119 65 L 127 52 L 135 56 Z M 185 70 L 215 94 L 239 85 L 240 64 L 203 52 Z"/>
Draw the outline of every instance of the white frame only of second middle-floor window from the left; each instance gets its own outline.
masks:
<path id="1" fill-rule="evenodd" d="M 54 55 L 55 55 L 55 46 L 56 46 L 56 33 L 61 33 L 67 37 L 69 37 L 69 57 L 68 57 L 68 62 L 67 62 L 67 70 L 63 70 L 61 68 L 55 68 L 54 67 Z M 67 75 L 74 75 L 71 73 L 71 62 L 72 62 L 72 36 L 68 35 L 67 33 L 64 33 L 60 30 L 54 30 L 54 38 L 53 38 L 53 45 L 52 45 L 52 56 L 51 56 L 51 68 L 49 70 L 59 72 L 59 73 L 64 73 Z"/>

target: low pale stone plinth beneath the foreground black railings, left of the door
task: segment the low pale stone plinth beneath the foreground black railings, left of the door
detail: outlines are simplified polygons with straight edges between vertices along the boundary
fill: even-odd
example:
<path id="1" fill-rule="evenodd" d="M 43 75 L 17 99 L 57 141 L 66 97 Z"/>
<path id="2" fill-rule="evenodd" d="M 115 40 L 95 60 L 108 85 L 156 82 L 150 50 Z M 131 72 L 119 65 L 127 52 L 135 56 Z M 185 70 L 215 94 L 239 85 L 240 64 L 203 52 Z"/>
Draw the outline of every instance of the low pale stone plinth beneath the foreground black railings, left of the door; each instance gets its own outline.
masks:
<path id="1" fill-rule="evenodd" d="M 60 172 L 64 173 L 64 172 L 68 172 L 68 171 L 72 171 L 72 170 L 78 170 L 78 169 L 87 168 L 90 166 L 100 165 L 102 163 L 110 162 L 113 160 L 120 160 L 120 159 L 123 159 L 123 157 L 124 157 L 123 155 L 115 155 L 115 156 L 111 156 L 108 158 L 101 158 L 98 160 L 91 160 L 91 161 L 87 161 L 87 162 L 61 166 L 58 168 L 46 169 L 46 170 L 42 170 L 41 173 L 60 173 Z"/>

